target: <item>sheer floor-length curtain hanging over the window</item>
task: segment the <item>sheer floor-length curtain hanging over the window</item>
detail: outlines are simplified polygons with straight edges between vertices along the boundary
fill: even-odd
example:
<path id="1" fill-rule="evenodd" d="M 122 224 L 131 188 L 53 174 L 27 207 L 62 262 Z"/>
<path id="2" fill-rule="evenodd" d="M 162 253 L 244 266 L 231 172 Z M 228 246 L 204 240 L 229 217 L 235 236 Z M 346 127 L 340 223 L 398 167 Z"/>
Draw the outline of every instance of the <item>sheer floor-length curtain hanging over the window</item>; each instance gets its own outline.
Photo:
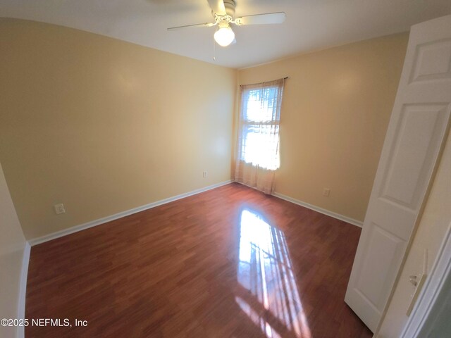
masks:
<path id="1" fill-rule="evenodd" d="M 285 79 L 241 86 L 235 181 L 266 194 L 279 168 L 279 124 Z"/>

